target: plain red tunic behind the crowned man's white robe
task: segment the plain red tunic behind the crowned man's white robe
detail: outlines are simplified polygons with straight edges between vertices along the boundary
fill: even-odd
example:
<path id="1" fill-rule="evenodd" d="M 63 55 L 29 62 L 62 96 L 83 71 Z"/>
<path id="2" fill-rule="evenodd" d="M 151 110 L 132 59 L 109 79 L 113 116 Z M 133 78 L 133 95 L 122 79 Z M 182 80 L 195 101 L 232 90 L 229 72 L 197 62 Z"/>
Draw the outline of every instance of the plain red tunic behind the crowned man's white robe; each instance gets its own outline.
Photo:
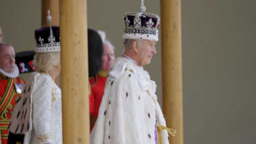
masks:
<path id="1" fill-rule="evenodd" d="M 104 94 L 107 75 L 107 71 L 100 71 L 95 77 L 89 79 L 91 85 L 90 116 L 98 117 L 98 109 L 100 109 L 100 103 Z M 93 126 L 91 126 L 91 130 L 93 130 Z"/>

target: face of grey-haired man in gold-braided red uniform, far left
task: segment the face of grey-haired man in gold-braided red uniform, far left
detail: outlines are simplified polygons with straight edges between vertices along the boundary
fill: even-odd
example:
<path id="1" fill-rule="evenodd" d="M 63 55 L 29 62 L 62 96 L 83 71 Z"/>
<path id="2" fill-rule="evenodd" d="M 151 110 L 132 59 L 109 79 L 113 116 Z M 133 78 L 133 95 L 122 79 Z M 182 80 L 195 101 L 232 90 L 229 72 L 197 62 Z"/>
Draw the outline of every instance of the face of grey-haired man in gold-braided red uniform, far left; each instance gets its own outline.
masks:
<path id="1" fill-rule="evenodd" d="M 2 46 L 0 51 L 0 68 L 12 73 L 15 68 L 15 52 L 12 46 Z"/>

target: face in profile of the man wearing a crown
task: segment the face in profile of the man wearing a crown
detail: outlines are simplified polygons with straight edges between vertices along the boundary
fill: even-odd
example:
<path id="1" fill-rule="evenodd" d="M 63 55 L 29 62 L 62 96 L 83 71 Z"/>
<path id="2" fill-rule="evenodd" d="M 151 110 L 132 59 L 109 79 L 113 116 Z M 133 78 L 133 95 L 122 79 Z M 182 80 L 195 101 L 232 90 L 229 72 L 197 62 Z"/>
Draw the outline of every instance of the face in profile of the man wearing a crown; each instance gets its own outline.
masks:
<path id="1" fill-rule="evenodd" d="M 147 65 L 151 62 L 153 54 L 156 54 L 156 42 L 142 40 L 141 48 L 139 48 L 139 65 Z"/>

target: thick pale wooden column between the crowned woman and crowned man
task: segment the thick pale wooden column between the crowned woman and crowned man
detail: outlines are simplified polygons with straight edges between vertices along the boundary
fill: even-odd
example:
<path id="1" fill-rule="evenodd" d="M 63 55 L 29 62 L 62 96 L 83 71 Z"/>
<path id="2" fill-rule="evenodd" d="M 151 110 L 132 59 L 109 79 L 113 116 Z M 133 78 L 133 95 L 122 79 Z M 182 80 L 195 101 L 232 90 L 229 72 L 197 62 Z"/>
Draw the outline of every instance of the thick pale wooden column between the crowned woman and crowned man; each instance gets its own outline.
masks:
<path id="1" fill-rule="evenodd" d="M 87 1 L 60 0 L 63 142 L 89 144 Z"/>

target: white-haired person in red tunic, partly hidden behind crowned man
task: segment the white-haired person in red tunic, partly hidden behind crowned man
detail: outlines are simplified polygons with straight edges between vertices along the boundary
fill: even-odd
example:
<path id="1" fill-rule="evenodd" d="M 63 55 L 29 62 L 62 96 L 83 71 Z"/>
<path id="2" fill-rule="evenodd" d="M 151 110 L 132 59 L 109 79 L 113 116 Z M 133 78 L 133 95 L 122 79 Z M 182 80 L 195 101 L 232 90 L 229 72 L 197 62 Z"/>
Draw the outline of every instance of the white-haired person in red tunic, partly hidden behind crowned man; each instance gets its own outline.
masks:
<path id="1" fill-rule="evenodd" d="M 90 113 L 91 130 L 93 129 L 96 118 L 98 117 L 98 109 L 100 108 L 100 103 L 104 94 L 104 87 L 108 72 L 110 71 L 115 61 L 114 46 L 112 45 L 112 43 L 110 43 L 110 41 L 106 39 L 106 35 L 103 31 L 98 31 L 98 33 L 100 34 L 103 42 L 103 54 L 102 66 L 100 68 L 100 71 L 93 77 L 89 78 L 89 82 L 91 85 L 91 94 L 93 98 L 93 109 Z"/>

